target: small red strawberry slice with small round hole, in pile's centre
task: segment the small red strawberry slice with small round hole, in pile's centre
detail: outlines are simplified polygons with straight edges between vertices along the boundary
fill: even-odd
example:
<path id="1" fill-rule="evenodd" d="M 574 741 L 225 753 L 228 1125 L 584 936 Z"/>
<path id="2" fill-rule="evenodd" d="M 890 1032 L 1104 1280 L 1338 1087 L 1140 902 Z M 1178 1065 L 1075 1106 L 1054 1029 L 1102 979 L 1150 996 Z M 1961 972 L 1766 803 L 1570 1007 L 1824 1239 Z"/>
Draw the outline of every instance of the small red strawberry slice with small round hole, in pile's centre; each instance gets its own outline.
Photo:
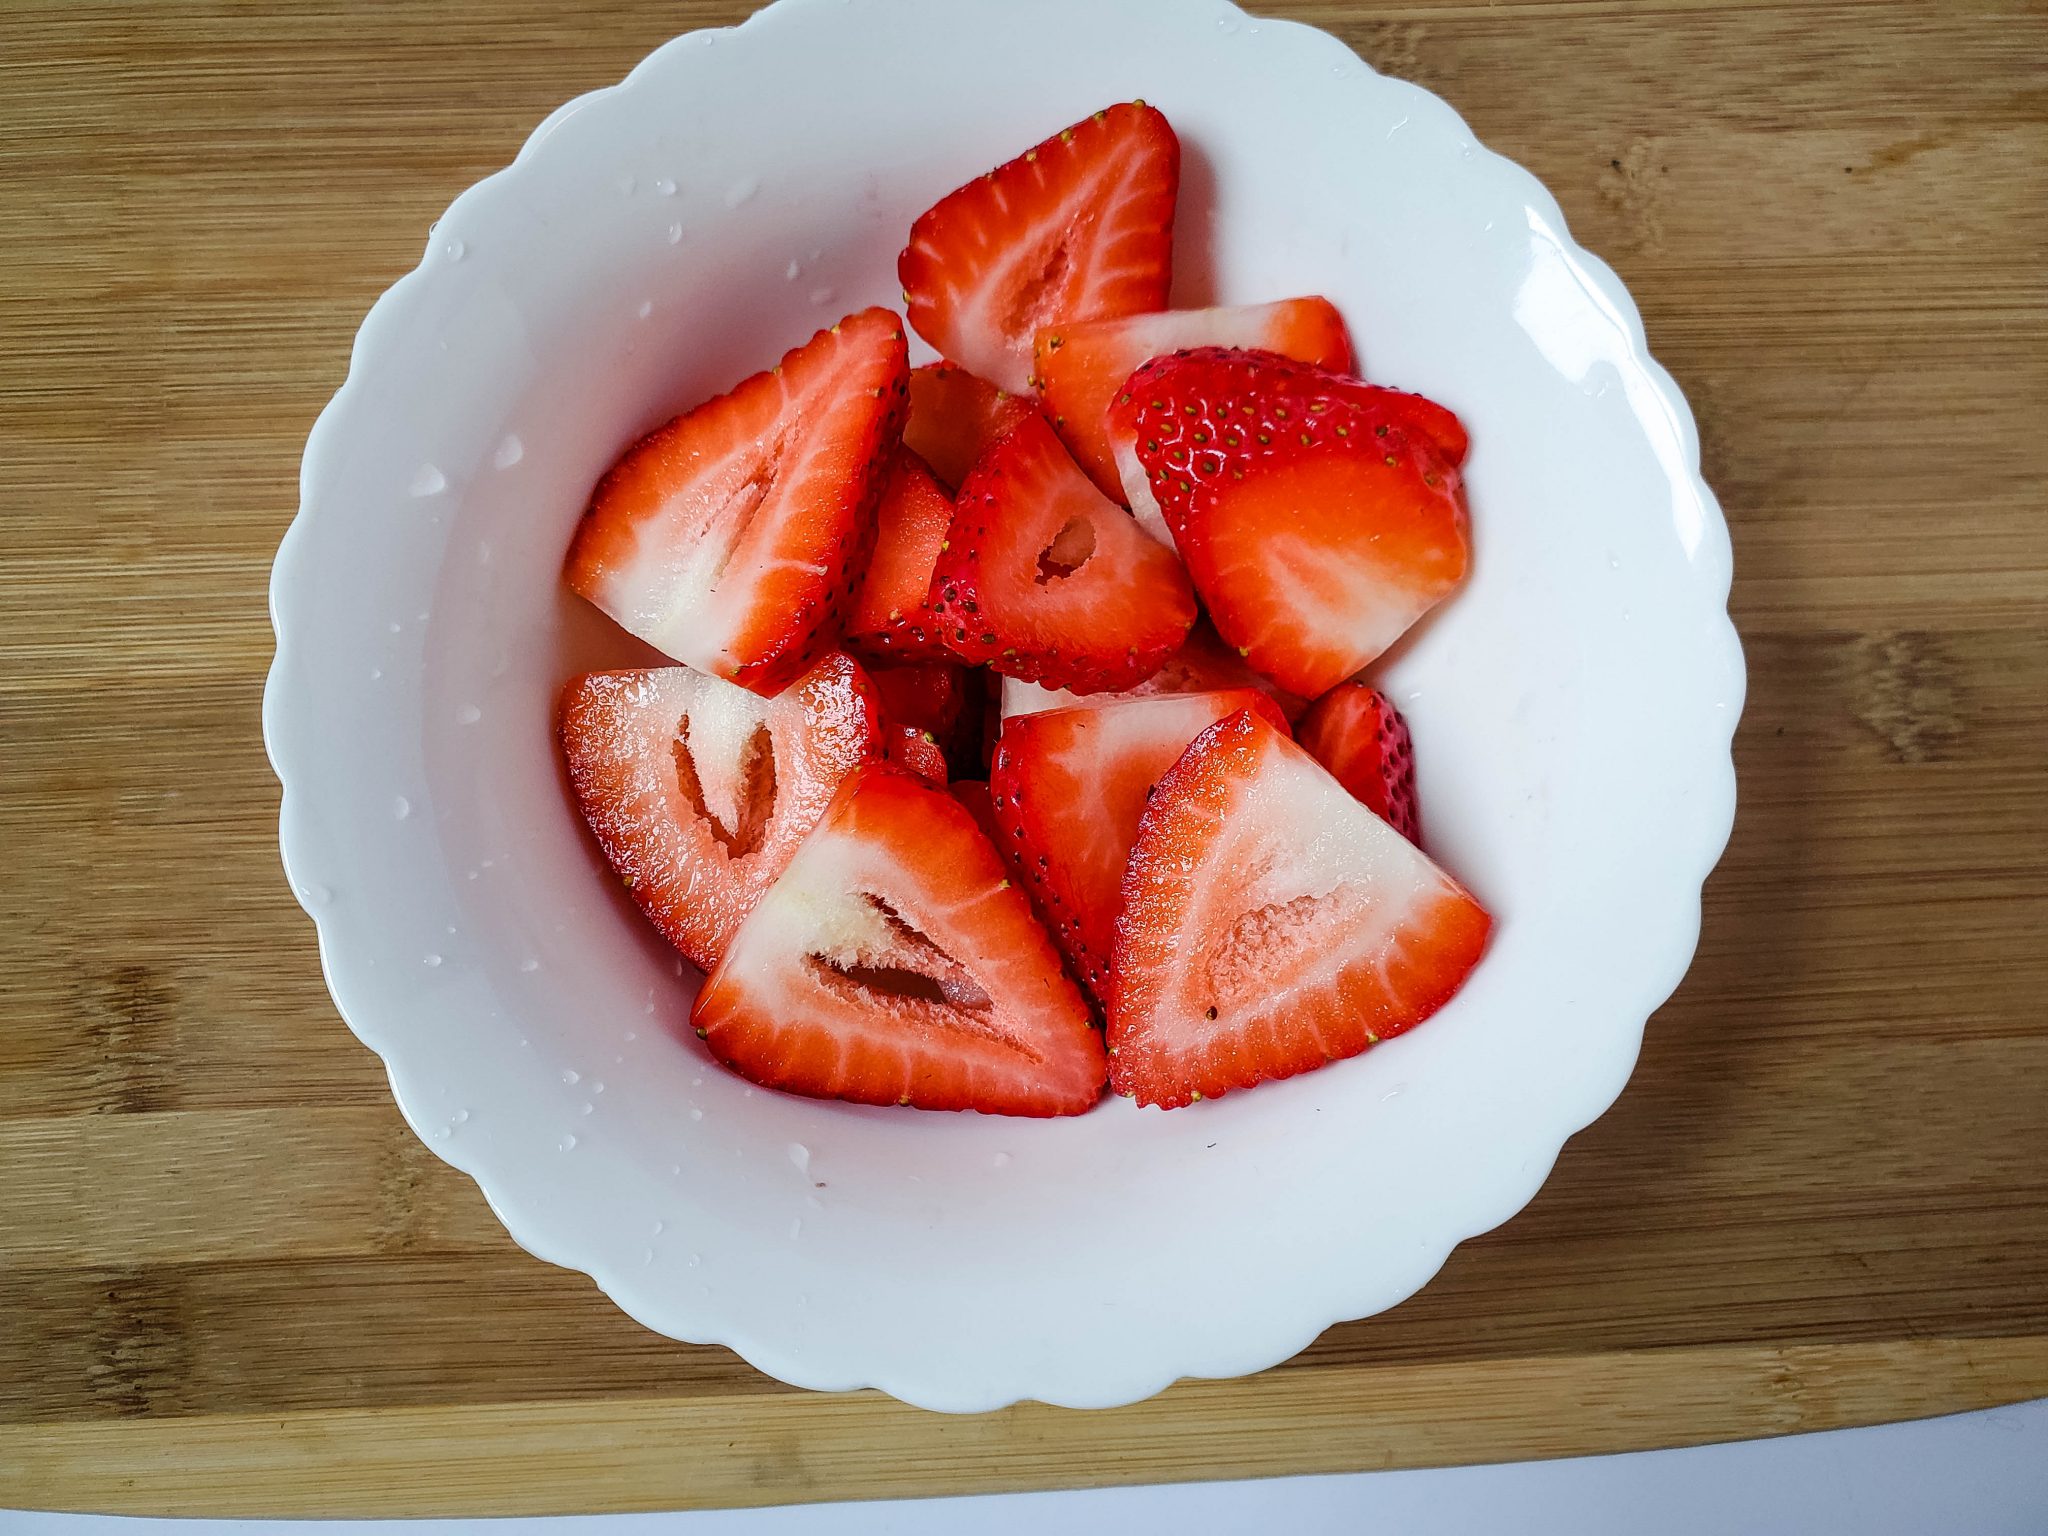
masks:
<path id="1" fill-rule="evenodd" d="M 1196 616 L 1180 561 L 1094 487 L 1040 416 L 961 487 L 932 608 L 967 662 L 1083 692 L 1153 674 Z"/>

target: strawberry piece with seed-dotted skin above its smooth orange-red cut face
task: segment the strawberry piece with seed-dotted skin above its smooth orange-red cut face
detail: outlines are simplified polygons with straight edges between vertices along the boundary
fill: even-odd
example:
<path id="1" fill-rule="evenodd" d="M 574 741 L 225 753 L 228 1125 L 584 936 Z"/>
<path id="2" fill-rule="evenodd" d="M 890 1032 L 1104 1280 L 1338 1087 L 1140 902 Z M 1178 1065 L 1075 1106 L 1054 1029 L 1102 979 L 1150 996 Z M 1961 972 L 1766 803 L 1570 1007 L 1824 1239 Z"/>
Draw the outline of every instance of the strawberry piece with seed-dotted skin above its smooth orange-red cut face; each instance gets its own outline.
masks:
<path id="1" fill-rule="evenodd" d="M 1464 580 L 1458 471 L 1407 406 L 1268 352 L 1147 362 L 1112 408 L 1217 633 L 1317 696 Z"/>

